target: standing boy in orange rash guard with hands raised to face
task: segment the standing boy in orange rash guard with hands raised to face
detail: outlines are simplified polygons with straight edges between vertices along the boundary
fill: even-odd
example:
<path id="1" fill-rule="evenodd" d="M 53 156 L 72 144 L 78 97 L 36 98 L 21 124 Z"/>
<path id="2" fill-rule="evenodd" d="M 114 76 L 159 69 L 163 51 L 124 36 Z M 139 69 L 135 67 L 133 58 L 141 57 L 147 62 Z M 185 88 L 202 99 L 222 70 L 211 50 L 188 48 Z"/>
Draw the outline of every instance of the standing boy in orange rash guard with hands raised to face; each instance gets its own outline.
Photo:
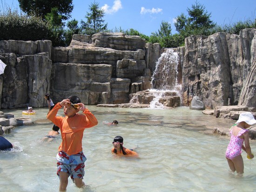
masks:
<path id="1" fill-rule="evenodd" d="M 65 117 L 56 116 L 62 106 Z M 83 114 L 77 114 L 79 111 Z M 86 161 L 82 152 L 83 132 L 86 128 L 96 126 L 97 119 L 76 96 L 70 96 L 57 103 L 47 114 L 47 119 L 61 130 L 62 142 L 56 156 L 57 175 L 60 178 L 59 190 L 66 191 L 69 176 L 77 187 L 82 188 L 85 185 L 82 179 Z"/>

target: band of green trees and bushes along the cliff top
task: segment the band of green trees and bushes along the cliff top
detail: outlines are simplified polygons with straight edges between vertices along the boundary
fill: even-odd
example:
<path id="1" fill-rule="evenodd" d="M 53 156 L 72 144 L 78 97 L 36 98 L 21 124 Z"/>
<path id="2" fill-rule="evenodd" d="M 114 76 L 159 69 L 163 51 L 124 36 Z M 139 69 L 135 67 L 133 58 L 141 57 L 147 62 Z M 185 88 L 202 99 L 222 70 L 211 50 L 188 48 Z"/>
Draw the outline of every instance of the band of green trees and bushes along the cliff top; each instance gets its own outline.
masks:
<path id="1" fill-rule="evenodd" d="M 81 20 L 81 26 L 77 20 L 70 20 L 73 10 L 72 0 L 18 0 L 20 8 L 27 15 L 18 14 L 17 11 L 0 10 L 0 40 L 51 40 L 53 46 L 68 46 L 73 34 L 92 35 L 99 32 L 113 32 L 104 24 L 104 10 L 99 3 L 92 3 L 89 6 L 89 13 Z M 150 36 L 140 33 L 136 29 L 123 30 L 115 28 L 114 32 L 125 33 L 126 35 L 137 35 L 144 38 L 146 42 L 160 43 L 162 47 L 184 46 L 184 40 L 190 35 L 209 36 L 216 32 L 239 34 L 242 29 L 256 28 L 256 19 L 248 19 L 237 23 L 218 26 L 210 20 L 211 13 L 205 10 L 197 0 L 191 8 L 187 8 L 188 15 L 181 13 L 176 17 L 175 27 L 178 33 L 171 34 L 171 25 L 162 21 L 160 29 L 151 33 Z M 34 16 L 38 15 L 38 16 Z"/>

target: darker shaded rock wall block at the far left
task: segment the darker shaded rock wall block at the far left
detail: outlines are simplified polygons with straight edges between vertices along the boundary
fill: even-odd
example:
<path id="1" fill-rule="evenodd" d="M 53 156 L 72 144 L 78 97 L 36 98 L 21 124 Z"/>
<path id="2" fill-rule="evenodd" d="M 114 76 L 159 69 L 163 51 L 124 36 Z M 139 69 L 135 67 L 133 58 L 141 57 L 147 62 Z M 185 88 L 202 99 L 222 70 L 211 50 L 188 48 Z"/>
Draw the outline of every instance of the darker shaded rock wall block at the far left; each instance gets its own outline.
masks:
<path id="1" fill-rule="evenodd" d="M 50 90 L 52 42 L 0 41 L 0 60 L 7 66 L 1 84 L 1 108 L 45 106 Z"/>

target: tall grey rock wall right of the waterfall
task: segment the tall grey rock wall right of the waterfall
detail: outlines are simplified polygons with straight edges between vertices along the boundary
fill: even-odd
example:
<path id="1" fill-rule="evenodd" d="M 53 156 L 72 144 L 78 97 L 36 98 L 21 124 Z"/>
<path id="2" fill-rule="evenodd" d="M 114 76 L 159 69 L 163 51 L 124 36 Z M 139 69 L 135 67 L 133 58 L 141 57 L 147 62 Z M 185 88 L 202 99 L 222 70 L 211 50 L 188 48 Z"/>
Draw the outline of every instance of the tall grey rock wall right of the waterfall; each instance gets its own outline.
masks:
<path id="1" fill-rule="evenodd" d="M 206 108 L 239 104 L 255 112 L 255 47 L 256 29 L 186 38 L 180 54 L 183 104 L 197 95 Z"/>

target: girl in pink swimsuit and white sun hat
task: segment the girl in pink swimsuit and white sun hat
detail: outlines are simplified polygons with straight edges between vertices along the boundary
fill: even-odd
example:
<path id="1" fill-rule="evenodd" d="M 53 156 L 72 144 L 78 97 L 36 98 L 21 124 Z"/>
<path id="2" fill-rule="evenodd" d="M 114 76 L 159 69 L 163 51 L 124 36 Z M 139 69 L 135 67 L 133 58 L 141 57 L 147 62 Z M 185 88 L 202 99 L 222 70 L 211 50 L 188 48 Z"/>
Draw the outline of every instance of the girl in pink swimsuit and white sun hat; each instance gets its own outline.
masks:
<path id="1" fill-rule="evenodd" d="M 246 129 L 255 123 L 256 120 L 251 113 L 241 113 L 236 121 L 237 126 L 233 126 L 230 131 L 231 138 L 226 151 L 226 159 L 231 171 L 236 171 L 239 175 L 243 175 L 242 149 L 248 154 L 250 159 L 254 158 L 249 144 L 249 131 Z M 245 146 L 243 146 L 243 141 Z"/>

